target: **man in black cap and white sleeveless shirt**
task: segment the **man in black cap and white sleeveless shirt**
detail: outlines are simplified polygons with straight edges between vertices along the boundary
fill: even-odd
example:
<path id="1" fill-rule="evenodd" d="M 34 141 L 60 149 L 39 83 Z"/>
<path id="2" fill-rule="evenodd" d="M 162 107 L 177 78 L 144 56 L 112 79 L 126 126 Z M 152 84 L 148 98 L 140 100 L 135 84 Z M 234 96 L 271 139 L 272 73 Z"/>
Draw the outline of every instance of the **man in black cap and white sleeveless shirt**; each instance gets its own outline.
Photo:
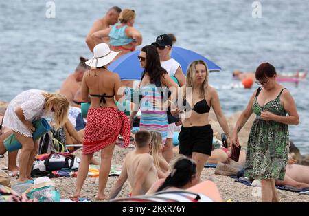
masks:
<path id="1" fill-rule="evenodd" d="M 170 77 L 175 77 L 179 86 L 185 85 L 185 74 L 181 69 L 181 65 L 171 58 L 170 54 L 172 52 L 173 42 L 168 34 L 161 34 L 157 36 L 156 42 L 152 43 L 159 52 L 161 66 L 166 69 Z M 167 162 L 170 162 L 173 158 L 173 136 L 174 131 L 180 131 L 181 127 L 177 126 L 181 123 L 172 123 L 168 125 L 168 138 L 166 139 L 165 147 L 162 150 L 163 157 Z"/>

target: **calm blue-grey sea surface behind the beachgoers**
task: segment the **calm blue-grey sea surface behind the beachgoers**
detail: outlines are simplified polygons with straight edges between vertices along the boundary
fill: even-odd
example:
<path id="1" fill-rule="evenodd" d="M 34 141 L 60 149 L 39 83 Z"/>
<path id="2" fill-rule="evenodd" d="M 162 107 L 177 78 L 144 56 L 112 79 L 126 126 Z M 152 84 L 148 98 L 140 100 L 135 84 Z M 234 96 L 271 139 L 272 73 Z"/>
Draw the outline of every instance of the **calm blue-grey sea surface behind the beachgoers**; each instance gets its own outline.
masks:
<path id="1" fill-rule="evenodd" d="M 79 56 L 90 58 L 85 36 L 111 6 L 133 8 L 143 44 L 172 32 L 179 47 L 203 54 L 222 67 L 210 74 L 227 116 L 244 109 L 258 87 L 237 88 L 234 69 L 254 71 L 268 61 L 277 72 L 309 69 L 309 1 L 260 1 L 262 17 L 252 17 L 253 1 L 104 0 L 52 1 L 56 17 L 45 16 L 48 1 L 0 1 L 0 100 L 26 89 L 54 91 L 74 71 Z M 295 98 L 300 124 L 290 138 L 309 153 L 308 81 L 284 83 Z M 236 88 L 233 86 L 236 86 Z"/>

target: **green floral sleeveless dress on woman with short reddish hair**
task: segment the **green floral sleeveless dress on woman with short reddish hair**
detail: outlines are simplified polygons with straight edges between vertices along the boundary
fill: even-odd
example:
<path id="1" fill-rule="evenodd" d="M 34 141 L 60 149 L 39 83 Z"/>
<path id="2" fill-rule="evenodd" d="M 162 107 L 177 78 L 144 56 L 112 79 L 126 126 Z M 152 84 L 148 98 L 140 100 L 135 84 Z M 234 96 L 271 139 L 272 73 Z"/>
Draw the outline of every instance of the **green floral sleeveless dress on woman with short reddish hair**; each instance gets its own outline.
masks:
<path id="1" fill-rule="evenodd" d="M 284 89 L 277 98 L 267 102 L 264 107 L 261 107 L 257 100 L 261 89 L 262 87 L 258 89 L 253 100 L 252 109 L 257 117 L 249 134 L 244 176 L 254 179 L 284 180 L 290 145 L 288 125 L 260 118 L 263 110 L 286 116 L 286 111 L 280 102 Z"/>

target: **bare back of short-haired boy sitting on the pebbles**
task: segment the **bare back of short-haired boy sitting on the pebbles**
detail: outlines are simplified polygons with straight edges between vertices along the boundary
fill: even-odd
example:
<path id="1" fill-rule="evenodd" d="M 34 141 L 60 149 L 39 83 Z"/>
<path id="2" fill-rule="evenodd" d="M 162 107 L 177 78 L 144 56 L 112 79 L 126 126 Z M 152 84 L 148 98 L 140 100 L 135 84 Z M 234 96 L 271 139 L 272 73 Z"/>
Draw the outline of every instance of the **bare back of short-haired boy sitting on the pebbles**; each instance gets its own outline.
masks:
<path id="1" fill-rule="evenodd" d="M 141 185 L 141 193 L 145 194 L 149 188 L 158 180 L 157 169 L 155 168 L 155 164 L 147 164 L 149 163 L 148 158 L 152 157 L 148 153 L 136 153 L 136 151 L 131 151 L 126 155 L 126 172 L 128 173 L 128 180 L 130 185 L 133 187 L 136 181 L 136 177 L 138 176 L 137 173 L 140 172 L 140 164 L 148 165 L 150 167 L 149 170 L 142 170 L 146 173 L 146 178 Z"/>

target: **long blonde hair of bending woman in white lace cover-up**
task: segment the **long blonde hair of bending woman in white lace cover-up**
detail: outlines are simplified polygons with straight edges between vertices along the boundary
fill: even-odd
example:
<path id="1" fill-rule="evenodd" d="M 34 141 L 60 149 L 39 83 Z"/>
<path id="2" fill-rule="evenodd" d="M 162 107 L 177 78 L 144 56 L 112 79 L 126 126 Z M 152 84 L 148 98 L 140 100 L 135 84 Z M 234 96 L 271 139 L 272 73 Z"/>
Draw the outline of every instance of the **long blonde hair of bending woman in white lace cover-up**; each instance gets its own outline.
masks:
<path id="1" fill-rule="evenodd" d="M 67 100 L 67 98 L 65 98 L 65 96 L 62 96 L 61 94 L 43 92 L 42 95 L 46 100 L 46 110 L 49 111 L 54 105 L 56 106 L 53 121 L 55 129 L 58 130 L 60 127 L 65 125 L 65 122 L 67 121 L 67 116 L 69 112 L 69 101 Z"/>

